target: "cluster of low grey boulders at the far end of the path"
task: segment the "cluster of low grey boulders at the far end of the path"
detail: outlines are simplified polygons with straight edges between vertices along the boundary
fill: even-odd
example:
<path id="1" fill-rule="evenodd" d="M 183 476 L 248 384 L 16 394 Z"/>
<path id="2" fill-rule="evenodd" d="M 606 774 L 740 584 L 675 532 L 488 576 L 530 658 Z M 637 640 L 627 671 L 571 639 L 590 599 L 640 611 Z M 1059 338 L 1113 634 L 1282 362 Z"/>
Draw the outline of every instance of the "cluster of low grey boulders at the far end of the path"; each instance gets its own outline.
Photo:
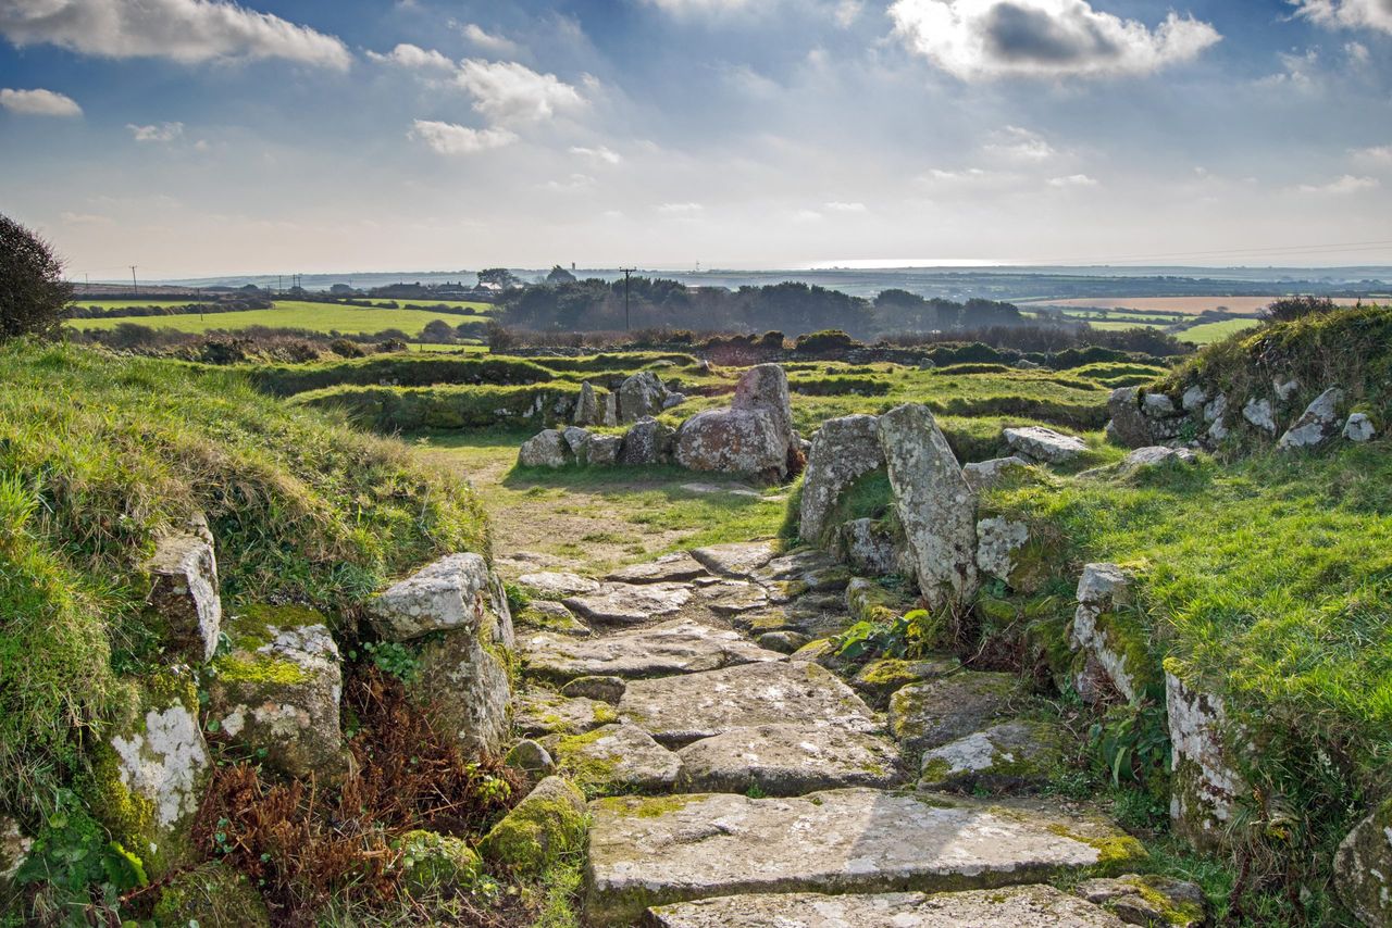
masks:
<path id="1" fill-rule="evenodd" d="M 617 398 L 617 402 L 615 402 Z M 682 402 L 650 371 L 624 381 L 603 403 L 583 384 L 572 426 L 547 429 L 518 452 L 528 467 L 568 465 L 661 465 L 780 481 L 802 465 L 803 441 L 792 427 L 788 376 L 778 365 L 750 367 L 739 378 L 727 409 L 699 412 L 672 429 L 653 416 Z M 622 435 L 596 434 L 585 426 L 633 424 Z"/>

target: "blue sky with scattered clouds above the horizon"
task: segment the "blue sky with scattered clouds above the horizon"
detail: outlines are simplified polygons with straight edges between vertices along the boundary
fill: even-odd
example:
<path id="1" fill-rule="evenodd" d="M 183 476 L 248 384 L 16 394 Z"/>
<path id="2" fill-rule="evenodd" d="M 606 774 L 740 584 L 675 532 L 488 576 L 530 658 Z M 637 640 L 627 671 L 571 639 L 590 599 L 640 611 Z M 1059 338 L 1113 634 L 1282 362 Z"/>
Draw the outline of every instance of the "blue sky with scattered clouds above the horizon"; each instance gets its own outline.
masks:
<path id="1" fill-rule="evenodd" d="M 1392 0 L 0 0 L 75 280 L 1392 264 Z"/>

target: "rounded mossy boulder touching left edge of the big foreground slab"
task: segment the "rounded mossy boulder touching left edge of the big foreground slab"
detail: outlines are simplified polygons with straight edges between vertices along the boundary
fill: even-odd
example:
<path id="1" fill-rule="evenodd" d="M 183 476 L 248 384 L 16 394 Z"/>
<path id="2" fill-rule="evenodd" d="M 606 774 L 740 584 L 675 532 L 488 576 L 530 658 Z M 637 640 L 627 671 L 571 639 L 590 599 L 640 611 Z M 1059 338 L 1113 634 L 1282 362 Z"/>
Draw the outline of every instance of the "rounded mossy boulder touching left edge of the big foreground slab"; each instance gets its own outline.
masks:
<path id="1" fill-rule="evenodd" d="M 547 776 L 493 826 L 479 850 L 519 877 L 535 877 L 585 845 L 585 796 L 560 776 Z"/>

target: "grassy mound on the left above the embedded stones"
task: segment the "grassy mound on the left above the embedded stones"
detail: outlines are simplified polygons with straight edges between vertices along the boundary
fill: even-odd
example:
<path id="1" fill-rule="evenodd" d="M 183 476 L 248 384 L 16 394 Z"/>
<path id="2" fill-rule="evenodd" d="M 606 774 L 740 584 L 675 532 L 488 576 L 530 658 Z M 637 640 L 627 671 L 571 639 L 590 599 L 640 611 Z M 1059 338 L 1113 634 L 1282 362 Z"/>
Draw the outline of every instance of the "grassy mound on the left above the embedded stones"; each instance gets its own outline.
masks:
<path id="1" fill-rule="evenodd" d="M 224 601 L 351 611 L 388 576 L 487 551 L 468 484 L 241 374 L 0 348 L 0 810 L 31 821 L 84 765 L 142 655 L 153 538 L 206 513 Z"/>

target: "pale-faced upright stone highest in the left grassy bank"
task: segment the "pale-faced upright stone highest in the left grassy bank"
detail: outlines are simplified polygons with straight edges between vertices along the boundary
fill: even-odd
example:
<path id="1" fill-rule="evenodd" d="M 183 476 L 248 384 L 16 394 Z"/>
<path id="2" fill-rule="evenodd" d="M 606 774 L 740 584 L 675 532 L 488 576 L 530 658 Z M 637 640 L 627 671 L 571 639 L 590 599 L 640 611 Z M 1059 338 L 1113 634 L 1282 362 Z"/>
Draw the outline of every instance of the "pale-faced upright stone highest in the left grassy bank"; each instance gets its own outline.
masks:
<path id="1" fill-rule="evenodd" d="M 146 601 L 164 626 L 170 650 L 193 664 L 212 658 L 223 626 L 212 543 L 196 534 L 160 538 L 145 569 L 150 576 Z"/>

